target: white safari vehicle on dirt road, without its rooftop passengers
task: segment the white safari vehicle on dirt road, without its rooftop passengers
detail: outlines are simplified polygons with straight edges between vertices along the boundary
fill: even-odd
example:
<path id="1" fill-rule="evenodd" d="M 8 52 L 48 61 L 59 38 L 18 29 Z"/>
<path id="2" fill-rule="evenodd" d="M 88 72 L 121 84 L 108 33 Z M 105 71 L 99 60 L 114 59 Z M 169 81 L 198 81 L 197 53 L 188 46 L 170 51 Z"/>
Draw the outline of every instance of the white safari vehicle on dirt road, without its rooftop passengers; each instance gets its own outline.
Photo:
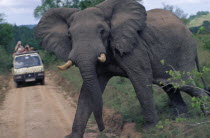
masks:
<path id="1" fill-rule="evenodd" d="M 26 82 L 39 82 L 44 85 L 44 65 L 37 52 L 15 54 L 12 73 L 16 87 Z"/>

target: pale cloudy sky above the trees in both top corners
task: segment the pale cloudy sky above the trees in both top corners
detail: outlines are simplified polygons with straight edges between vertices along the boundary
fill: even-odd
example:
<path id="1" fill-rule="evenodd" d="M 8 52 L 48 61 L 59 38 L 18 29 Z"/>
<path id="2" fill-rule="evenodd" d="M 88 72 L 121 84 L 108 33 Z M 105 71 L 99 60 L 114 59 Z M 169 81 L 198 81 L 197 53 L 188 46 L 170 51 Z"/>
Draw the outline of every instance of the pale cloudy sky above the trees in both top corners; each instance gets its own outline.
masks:
<path id="1" fill-rule="evenodd" d="M 11 24 L 36 24 L 33 10 L 40 5 L 41 0 L 0 0 L 0 13 L 6 15 L 6 21 Z M 162 8 L 163 3 L 177 6 L 186 13 L 210 11 L 210 0 L 143 0 L 147 10 Z"/>

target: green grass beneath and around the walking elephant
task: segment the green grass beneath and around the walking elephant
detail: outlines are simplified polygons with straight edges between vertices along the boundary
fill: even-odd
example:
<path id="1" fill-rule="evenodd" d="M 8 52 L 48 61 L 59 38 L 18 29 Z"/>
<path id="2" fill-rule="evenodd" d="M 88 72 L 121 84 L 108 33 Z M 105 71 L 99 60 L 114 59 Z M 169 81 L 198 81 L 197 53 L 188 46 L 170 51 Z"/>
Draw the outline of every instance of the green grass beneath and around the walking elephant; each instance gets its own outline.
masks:
<path id="1" fill-rule="evenodd" d="M 207 35 L 197 36 L 198 41 L 198 55 L 201 66 L 210 67 L 210 53 L 202 47 L 203 43 L 199 41 L 198 37 L 209 37 Z M 78 68 L 73 67 L 66 72 L 59 72 L 56 69 L 57 62 L 53 64 L 51 68 L 56 70 L 58 74 L 68 80 L 79 92 L 82 84 L 82 78 L 78 71 Z M 210 75 L 205 78 L 210 83 Z M 182 93 L 183 99 L 188 105 L 189 118 L 174 120 L 171 116 L 171 108 L 169 107 L 169 100 L 165 92 L 158 86 L 153 86 L 153 95 L 158 111 L 158 116 L 162 124 L 162 128 L 154 127 L 151 129 L 143 128 L 143 116 L 140 112 L 141 106 L 136 98 L 135 91 L 130 80 L 121 77 L 112 78 L 103 95 L 104 105 L 110 109 L 113 109 L 116 113 L 120 113 L 123 116 L 123 120 L 126 122 L 135 122 L 136 131 L 141 132 L 142 137 L 209 137 L 210 123 L 204 123 L 201 125 L 191 126 L 199 122 L 209 121 L 208 118 L 202 116 L 200 110 L 196 110 L 191 106 L 191 97 L 185 93 Z M 167 122 L 167 123 L 165 123 Z"/>

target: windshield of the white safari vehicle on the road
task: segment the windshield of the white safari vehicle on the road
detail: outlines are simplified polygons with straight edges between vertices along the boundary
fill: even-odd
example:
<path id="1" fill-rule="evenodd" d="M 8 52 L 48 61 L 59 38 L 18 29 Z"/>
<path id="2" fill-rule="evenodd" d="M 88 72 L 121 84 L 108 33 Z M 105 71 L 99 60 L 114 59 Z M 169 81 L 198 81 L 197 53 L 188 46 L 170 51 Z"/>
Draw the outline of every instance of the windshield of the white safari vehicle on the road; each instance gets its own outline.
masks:
<path id="1" fill-rule="evenodd" d="M 41 61 L 38 55 L 26 55 L 15 58 L 15 69 L 40 66 Z"/>

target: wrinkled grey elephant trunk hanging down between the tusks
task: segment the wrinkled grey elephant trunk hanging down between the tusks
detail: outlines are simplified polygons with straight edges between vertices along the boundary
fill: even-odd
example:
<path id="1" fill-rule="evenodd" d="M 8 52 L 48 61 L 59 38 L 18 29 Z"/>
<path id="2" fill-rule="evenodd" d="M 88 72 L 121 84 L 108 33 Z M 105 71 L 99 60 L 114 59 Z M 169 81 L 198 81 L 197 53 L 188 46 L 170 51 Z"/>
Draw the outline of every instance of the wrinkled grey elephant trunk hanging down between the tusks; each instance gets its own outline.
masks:
<path id="1" fill-rule="evenodd" d="M 87 97 L 89 98 L 89 106 L 94 113 L 99 130 L 103 131 L 105 129 L 102 118 L 103 100 L 101 87 L 96 74 L 96 62 L 97 57 L 93 57 L 92 59 L 86 57 L 80 58 L 78 60 L 78 67 L 83 78 L 83 85 L 86 88 L 86 92 L 89 93 L 89 97 Z"/>

